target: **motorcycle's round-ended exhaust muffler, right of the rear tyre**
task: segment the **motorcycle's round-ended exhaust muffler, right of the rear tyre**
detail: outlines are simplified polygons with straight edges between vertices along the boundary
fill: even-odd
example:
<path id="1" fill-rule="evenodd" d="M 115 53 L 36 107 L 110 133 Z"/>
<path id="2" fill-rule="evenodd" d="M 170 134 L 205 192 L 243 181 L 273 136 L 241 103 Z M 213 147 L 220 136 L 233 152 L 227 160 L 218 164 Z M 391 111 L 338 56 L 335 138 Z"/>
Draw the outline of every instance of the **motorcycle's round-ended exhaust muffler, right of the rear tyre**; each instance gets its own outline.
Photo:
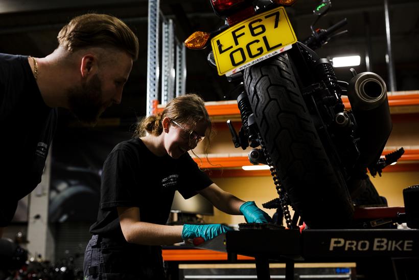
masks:
<path id="1" fill-rule="evenodd" d="M 347 96 L 360 139 L 360 166 L 374 166 L 392 129 L 386 84 L 379 75 L 363 72 L 351 79 Z"/>

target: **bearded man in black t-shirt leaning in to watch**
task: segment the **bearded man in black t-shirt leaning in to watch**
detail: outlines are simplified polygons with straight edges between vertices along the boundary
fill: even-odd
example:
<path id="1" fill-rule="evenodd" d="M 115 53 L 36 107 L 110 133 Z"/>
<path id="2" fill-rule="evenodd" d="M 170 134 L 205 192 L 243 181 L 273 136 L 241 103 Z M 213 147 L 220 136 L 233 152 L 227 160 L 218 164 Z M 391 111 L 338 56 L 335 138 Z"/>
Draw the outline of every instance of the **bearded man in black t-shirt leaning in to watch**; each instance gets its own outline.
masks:
<path id="1" fill-rule="evenodd" d="M 41 181 L 57 124 L 57 108 L 95 124 L 120 103 L 138 56 L 138 38 L 105 14 L 73 18 L 48 56 L 0 54 L 0 237 L 19 199 Z"/>

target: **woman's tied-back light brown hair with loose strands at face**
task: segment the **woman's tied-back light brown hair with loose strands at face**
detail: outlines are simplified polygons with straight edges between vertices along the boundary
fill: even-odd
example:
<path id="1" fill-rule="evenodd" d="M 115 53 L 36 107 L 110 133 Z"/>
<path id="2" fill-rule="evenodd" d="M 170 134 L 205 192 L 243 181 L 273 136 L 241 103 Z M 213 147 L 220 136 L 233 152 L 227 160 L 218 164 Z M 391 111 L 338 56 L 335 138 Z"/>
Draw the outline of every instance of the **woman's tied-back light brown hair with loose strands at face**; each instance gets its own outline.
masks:
<path id="1" fill-rule="evenodd" d="M 204 100 L 197 94 L 185 94 L 172 99 L 162 112 L 144 118 L 135 128 L 135 137 L 142 137 L 146 132 L 159 136 L 163 132 L 162 120 L 168 117 L 180 125 L 187 125 L 193 130 L 198 122 L 206 124 L 205 151 L 211 140 L 212 123 L 205 109 Z"/>

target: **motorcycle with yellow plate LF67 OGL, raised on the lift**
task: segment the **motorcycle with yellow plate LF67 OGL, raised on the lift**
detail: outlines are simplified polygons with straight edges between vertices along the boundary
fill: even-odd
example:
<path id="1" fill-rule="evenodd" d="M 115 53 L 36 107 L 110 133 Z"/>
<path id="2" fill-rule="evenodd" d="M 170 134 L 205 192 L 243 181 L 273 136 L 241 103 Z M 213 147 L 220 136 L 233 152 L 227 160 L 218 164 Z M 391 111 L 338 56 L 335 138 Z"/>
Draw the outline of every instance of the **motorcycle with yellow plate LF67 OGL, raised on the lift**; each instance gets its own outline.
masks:
<path id="1" fill-rule="evenodd" d="M 343 34 L 336 32 L 346 20 L 315 30 L 331 7 L 322 0 L 314 10 L 312 35 L 300 42 L 285 9 L 295 1 L 210 0 L 225 25 L 193 33 L 185 46 L 211 45 L 208 61 L 218 74 L 242 84 L 239 133 L 227 121 L 232 141 L 237 148 L 252 148 L 251 163 L 270 166 L 287 227 L 295 228 L 298 216 L 310 228 L 347 227 L 360 193 L 367 189 L 380 203 L 367 168 L 381 176 L 403 150 L 380 159 L 392 128 L 384 80 L 352 69 L 350 82 L 338 81 L 332 63 L 313 51 Z"/>

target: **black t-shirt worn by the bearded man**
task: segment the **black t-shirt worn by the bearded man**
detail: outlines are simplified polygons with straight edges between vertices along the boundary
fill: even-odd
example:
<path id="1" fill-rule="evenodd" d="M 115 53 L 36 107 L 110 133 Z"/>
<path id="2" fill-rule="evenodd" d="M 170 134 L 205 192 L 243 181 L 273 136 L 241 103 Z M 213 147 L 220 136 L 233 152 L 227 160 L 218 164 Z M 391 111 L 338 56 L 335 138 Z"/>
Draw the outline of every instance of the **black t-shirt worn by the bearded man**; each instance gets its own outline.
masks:
<path id="1" fill-rule="evenodd" d="M 57 109 L 43 101 L 28 57 L 0 54 L 0 227 L 40 183 L 56 123 Z"/>

